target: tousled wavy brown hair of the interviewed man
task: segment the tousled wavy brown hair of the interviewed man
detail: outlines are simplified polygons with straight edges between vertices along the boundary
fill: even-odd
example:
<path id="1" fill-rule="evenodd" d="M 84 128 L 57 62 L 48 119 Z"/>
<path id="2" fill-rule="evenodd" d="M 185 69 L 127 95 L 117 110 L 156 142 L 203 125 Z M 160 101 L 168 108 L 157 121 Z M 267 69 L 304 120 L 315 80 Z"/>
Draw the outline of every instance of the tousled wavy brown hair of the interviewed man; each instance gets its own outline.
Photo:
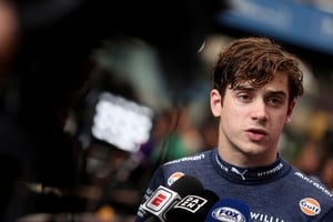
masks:
<path id="1" fill-rule="evenodd" d="M 273 80 L 276 71 L 287 74 L 290 101 L 303 94 L 303 72 L 299 58 L 270 39 L 242 38 L 219 54 L 213 68 L 213 87 L 222 97 L 226 87 L 234 89 L 244 81 L 261 88 Z"/>

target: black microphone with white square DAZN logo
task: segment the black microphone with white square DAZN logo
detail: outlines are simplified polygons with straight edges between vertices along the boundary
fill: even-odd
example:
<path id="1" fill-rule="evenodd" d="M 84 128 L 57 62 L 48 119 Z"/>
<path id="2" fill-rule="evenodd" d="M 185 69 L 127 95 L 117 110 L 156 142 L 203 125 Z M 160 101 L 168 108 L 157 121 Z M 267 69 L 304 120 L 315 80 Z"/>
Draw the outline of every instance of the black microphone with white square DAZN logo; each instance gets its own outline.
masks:
<path id="1" fill-rule="evenodd" d="M 202 222 L 219 199 L 210 190 L 202 190 L 198 195 L 186 195 L 167 212 L 167 222 Z"/>

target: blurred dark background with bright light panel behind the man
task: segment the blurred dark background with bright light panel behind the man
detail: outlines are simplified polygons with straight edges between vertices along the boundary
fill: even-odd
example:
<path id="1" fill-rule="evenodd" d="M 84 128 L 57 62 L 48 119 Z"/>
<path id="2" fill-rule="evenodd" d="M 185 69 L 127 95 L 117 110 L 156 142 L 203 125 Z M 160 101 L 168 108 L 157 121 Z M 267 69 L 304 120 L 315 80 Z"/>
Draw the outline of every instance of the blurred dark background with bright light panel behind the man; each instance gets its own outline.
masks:
<path id="1" fill-rule="evenodd" d="M 249 36 L 302 59 L 280 151 L 333 190 L 332 1 L 0 1 L 1 221 L 133 221 L 159 164 L 216 144 L 212 64 Z"/>

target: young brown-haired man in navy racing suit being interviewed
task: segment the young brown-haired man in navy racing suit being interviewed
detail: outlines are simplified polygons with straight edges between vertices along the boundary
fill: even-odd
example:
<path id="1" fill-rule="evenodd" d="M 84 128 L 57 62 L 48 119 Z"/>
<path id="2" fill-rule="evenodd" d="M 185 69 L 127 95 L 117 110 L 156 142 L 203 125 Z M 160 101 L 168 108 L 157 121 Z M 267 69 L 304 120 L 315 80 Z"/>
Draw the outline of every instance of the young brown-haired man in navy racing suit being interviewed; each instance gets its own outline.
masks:
<path id="1" fill-rule="evenodd" d="M 278 152 L 302 80 L 299 60 L 269 39 L 232 42 L 219 56 L 210 93 L 220 119 L 218 148 L 161 165 L 142 203 L 174 175 L 188 174 L 220 199 L 248 204 L 254 222 L 333 221 L 333 194 Z M 147 214 L 141 205 L 137 221 Z"/>

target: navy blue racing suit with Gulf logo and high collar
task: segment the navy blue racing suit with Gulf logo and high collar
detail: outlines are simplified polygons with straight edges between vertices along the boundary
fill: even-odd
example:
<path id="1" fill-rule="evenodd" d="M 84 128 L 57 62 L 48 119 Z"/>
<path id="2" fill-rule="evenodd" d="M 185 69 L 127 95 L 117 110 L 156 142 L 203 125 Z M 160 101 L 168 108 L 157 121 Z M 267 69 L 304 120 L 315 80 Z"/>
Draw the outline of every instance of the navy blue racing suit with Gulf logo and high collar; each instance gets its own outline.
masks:
<path id="1" fill-rule="evenodd" d="M 224 162 L 218 149 L 161 165 L 141 203 L 159 185 L 170 188 L 182 174 L 198 178 L 204 189 L 220 199 L 232 198 L 246 203 L 253 222 L 333 222 L 333 194 L 281 155 L 271 165 L 246 169 Z M 144 221 L 147 215 L 139 206 L 135 221 Z"/>

